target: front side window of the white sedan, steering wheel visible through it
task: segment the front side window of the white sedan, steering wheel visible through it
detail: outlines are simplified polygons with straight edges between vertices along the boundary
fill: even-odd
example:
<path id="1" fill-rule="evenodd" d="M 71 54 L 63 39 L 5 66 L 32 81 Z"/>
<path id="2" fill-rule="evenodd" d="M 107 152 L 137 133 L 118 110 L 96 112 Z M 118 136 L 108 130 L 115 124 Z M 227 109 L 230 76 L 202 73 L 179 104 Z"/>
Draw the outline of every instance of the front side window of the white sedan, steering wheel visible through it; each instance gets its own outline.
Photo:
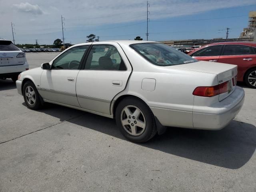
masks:
<path id="1" fill-rule="evenodd" d="M 88 48 L 89 46 L 85 45 L 67 50 L 54 60 L 52 69 L 78 70 L 82 57 Z"/>

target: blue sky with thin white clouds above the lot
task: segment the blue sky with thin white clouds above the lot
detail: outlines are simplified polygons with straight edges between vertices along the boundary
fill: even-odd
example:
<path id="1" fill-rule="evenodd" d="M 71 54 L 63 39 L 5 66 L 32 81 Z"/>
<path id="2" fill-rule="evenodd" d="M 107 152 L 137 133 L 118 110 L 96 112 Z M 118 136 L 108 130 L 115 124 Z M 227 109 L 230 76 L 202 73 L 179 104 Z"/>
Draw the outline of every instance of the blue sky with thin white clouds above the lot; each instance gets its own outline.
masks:
<path id="1" fill-rule="evenodd" d="M 255 0 L 148 0 L 148 40 L 237 38 L 248 25 Z M 146 0 L 0 0 L 0 38 L 16 44 L 86 42 L 95 34 L 100 40 L 146 40 Z"/>

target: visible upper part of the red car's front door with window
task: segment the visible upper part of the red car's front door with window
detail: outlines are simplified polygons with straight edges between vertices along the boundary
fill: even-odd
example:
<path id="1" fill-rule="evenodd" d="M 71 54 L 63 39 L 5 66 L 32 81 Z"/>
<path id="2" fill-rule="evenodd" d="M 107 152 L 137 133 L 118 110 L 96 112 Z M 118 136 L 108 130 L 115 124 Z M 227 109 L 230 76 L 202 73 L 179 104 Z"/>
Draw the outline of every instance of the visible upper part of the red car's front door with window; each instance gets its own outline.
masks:
<path id="1" fill-rule="evenodd" d="M 212 45 L 202 48 L 190 56 L 200 61 L 218 62 L 222 45 Z"/>

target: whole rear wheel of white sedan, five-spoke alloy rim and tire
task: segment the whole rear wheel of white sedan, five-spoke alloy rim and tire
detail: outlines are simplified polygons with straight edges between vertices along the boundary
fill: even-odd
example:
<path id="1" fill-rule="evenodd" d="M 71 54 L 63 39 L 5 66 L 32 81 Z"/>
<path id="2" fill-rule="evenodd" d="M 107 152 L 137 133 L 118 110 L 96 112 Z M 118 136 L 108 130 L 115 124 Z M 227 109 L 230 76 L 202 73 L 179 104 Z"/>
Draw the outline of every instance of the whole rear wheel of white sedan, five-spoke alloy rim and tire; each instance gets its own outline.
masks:
<path id="1" fill-rule="evenodd" d="M 156 134 L 156 123 L 150 108 L 137 98 L 124 98 L 116 108 L 116 124 L 130 141 L 142 143 Z"/>

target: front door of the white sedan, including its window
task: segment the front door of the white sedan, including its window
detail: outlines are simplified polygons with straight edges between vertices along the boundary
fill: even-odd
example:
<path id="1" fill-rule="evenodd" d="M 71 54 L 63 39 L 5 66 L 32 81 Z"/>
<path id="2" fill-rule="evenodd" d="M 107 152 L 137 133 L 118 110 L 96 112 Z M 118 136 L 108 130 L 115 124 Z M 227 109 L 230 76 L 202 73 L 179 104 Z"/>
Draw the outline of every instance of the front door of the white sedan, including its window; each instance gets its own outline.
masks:
<path id="1" fill-rule="evenodd" d="M 77 46 L 52 62 L 51 70 L 41 75 L 40 94 L 44 99 L 80 107 L 76 98 L 76 78 L 88 46 Z"/>

